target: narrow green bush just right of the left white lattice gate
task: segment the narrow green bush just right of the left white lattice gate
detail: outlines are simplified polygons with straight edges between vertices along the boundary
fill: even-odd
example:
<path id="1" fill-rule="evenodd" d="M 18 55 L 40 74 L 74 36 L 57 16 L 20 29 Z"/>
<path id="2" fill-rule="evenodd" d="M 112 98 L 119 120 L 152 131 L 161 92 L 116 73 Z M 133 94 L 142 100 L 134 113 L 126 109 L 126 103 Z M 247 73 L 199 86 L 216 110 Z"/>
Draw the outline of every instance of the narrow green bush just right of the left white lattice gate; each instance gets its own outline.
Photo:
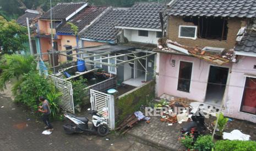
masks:
<path id="1" fill-rule="evenodd" d="M 84 106 L 89 102 L 85 102 L 84 98 L 87 95 L 87 79 L 83 77 L 79 77 L 77 80 L 72 80 L 72 87 L 73 87 L 73 99 L 74 99 L 74 106 L 77 104 L 79 106 Z"/>

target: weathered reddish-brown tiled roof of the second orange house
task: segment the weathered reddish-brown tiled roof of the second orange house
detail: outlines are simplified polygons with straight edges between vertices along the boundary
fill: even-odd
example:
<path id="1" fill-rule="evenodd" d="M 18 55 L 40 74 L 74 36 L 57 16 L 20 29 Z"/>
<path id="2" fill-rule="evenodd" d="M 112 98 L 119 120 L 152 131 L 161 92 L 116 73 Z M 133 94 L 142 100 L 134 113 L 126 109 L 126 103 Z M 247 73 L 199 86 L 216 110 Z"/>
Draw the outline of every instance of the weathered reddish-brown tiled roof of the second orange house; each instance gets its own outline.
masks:
<path id="1" fill-rule="evenodd" d="M 69 22 L 72 22 L 74 25 L 78 27 L 78 32 L 83 30 L 86 25 L 90 25 L 90 23 L 95 20 L 101 13 L 103 13 L 107 7 L 87 7 L 82 10 L 79 14 L 75 15 L 70 19 Z M 70 25 L 64 24 L 57 29 L 58 33 L 69 33 L 74 34 L 71 30 Z"/>

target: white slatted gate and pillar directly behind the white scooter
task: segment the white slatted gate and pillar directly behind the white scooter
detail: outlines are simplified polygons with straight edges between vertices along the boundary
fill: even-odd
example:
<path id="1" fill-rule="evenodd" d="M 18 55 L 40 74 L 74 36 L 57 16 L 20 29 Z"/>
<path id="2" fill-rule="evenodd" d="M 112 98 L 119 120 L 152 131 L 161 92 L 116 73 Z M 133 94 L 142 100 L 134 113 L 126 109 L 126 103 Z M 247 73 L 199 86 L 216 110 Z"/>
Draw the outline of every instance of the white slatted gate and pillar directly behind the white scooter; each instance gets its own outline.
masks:
<path id="1" fill-rule="evenodd" d="M 114 96 L 90 89 L 91 109 L 96 110 L 105 118 L 111 130 L 115 129 Z"/>

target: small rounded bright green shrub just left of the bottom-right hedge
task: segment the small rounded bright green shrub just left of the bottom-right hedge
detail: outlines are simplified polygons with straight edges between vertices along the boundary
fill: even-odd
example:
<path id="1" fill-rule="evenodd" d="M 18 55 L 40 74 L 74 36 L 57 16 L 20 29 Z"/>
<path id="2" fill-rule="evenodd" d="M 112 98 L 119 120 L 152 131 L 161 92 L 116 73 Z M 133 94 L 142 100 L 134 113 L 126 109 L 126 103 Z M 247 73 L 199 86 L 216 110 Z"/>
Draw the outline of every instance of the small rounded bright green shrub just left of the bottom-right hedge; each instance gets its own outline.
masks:
<path id="1" fill-rule="evenodd" d="M 199 149 L 203 151 L 211 150 L 213 147 L 214 147 L 214 143 L 213 141 L 211 141 L 210 135 L 199 136 L 197 138 L 197 141 L 194 143 L 195 149 Z"/>

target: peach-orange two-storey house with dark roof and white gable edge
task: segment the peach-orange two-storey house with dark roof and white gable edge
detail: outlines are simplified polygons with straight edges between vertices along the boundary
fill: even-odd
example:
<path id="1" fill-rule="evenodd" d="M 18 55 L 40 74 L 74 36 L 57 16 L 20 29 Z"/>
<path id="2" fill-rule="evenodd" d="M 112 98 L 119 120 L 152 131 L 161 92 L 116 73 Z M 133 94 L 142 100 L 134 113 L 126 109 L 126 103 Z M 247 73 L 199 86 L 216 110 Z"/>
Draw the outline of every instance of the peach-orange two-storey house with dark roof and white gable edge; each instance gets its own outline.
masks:
<path id="1" fill-rule="evenodd" d="M 58 26 L 65 24 L 75 15 L 88 7 L 88 3 L 58 3 L 52 8 L 52 28 L 51 28 L 51 9 L 42 14 L 38 20 L 38 33 L 36 37 L 40 48 L 40 53 L 47 53 L 52 49 L 51 31 L 53 32 L 53 49 L 61 50 L 61 39 L 58 39 L 56 29 Z M 48 55 L 42 55 L 44 61 L 49 60 Z M 59 59 L 56 56 L 55 65 L 58 65 Z"/>

